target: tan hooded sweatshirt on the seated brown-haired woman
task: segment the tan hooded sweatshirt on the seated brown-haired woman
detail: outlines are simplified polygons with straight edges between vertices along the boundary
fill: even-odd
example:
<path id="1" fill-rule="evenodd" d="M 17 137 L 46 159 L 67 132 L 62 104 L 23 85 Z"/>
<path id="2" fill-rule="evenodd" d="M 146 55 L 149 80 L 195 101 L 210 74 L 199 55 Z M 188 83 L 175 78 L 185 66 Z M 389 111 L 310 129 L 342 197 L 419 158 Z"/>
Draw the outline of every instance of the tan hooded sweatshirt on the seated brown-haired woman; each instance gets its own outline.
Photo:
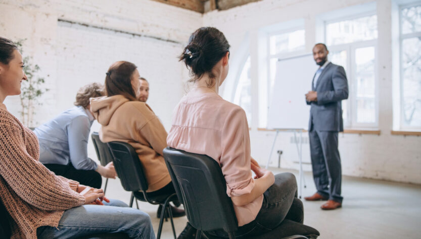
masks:
<path id="1" fill-rule="evenodd" d="M 167 132 L 148 104 L 122 95 L 91 98 L 90 110 L 102 125 L 101 141 L 129 143 L 136 150 L 148 180 L 147 192 L 171 183 L 163 152 Z"/>

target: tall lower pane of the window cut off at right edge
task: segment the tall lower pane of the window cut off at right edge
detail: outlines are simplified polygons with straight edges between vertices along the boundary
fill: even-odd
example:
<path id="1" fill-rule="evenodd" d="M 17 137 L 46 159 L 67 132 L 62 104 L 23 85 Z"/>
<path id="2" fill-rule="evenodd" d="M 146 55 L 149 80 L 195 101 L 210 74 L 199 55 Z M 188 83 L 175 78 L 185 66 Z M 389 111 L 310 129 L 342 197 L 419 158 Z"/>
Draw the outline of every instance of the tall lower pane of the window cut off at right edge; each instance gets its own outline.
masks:
<path id="1" fill-rule="evenodd" d="M 402 41 L 403 125 L 421 128 L 421 40 Z"/>

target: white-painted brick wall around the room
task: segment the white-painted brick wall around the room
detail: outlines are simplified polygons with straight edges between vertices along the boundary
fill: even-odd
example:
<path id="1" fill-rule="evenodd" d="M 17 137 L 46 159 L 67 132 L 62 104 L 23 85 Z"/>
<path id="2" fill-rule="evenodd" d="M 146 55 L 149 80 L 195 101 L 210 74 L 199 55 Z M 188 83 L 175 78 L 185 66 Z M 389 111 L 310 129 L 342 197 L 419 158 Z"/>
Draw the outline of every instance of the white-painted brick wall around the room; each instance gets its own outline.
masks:
<path id="1" fill-rule="evenodd" d="M 192 11 L 153 1 L 103 1 L 103 0 L 2 0 L 0 2 L 0 35 L 17 40 L 27 38 L 25 54 L 34 56 L 34 62 L 46 77 L 46 86 L 51 91 L 43 97 L 35 120 L 45 122 L 60 111 L 70 107 L 75 92 L 88 82 L 103 82 L 105 72 L 115 61 L 125 59 L 138 66 L 141 75 L 151 84 L 148 103 L 160 116 L 168 129 L 172 109 L 184 93 L 182 81 L 188 78 L 187 71 L 177 62 L 189 35 L 201 26 L 216 26 L 226 35 L 231 44 L 231 61 L 240 50 L 245 36 L 250 42 L 261 27 L 295 19 L 304 19 L 306 49 L 316 39 L 316 16 L 335 9 L 370 2 L 368 0 L 263 0 L 227 11 L 214 11 L 201 15 Z M 421 137 L 392 136 L 392 79 L 390 52 L 390 1 L 378 0 L 379 62 L 378 76 L 380 97 L 380 125 L 377 135 L 340 134 L 339 144 L 343 162 L 343 173 L 361 177 L 382 178 L 392 181 L 421 184 Z M 59 22 L 60 20 L 87 24 Z M 116 33 L 113 29 L 147 36 L 139 37 Z M 152 37 L 152 38 L 151 38 Z M 159 38 L 162 40 L 157 40 Z M 252 46 L 250 52 L 257 54 Z M 252 63 L 253 64 L 253 63 Z M 235 66 L 235 62 L 230 63 Z M 258 72 L 258 66 L 252 66 Z M 236 74 L 231 68 L 230 74 Z M 253 75 L 253 81 L 256 81 Z M 225 84 L 229 84 L 226 82 Z M 253 83 L 253 85 L 258 85 Z M 256 99 L 254 99 L 256 100 Z M 20 109 L 17 96 L 5 101 L 9 110 L 18 115 Z M 253 107 L 257 107 L 257 101 Z M 258 117 L 254 110 L 253 118 Z M 251 143 L 252 155 L 265 164 L 273 140 L 273 132 L 257 131 L 253 122 Z M 92 131 L 98 131 L 98 124 Z M 305 137 L 307 137 L 304 134 Z M 284 150 L 283 167 L 297 168 L 291 133 L 281 133 L 275 145 Z M 96 158 L 89 147 L 89 155 Z M 303 145 L 304 161 L 309 161 L 308 144 Z M 277 165 L 277 155 L 272 155 L 272 165 Z M 309 170 L 309 165 L 305 165 Z M 307 182 L 312 183 L 312 182 Z"/>

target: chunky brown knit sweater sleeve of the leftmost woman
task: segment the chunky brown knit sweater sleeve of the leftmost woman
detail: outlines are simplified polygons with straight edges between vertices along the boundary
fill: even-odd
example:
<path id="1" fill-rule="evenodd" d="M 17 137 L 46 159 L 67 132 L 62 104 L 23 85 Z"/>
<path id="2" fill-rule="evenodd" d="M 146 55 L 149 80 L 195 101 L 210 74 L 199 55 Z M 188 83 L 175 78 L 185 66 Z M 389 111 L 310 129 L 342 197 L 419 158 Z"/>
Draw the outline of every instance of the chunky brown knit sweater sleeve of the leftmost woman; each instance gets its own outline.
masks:
<path id="1" fill-rule="evenodd" d="M 56 176 L 28 154 L 25 143 L 36 144 L 36 138 L 24 139 L 20 125 L 1 116 L 0 174 L 13 191 L 41 210 L 66 210 L 82 205 L 84 197 L 71 188 L 74 181 Z"/>

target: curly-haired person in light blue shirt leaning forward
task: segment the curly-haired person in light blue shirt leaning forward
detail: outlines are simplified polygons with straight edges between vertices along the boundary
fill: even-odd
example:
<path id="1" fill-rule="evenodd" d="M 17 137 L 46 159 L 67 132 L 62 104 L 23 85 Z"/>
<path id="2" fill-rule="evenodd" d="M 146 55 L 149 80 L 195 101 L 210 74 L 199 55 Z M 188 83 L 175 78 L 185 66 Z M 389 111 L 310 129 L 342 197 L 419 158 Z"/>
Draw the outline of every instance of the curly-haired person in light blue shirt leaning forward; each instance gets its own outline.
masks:
<path id="1" fill-rule="evenodd" d="M 45 167 L 96 189 L 101 188 L 101 175 L 116 177 L 112 162 L 102 166 L 87 156 L 90 127 L 95 120 L 89 111 L 89 98 L 103 95 L 104 87 L 99 83 L 80 88 L 74 107 L 34 130 L 39 140 L 39 161 Z"/>

